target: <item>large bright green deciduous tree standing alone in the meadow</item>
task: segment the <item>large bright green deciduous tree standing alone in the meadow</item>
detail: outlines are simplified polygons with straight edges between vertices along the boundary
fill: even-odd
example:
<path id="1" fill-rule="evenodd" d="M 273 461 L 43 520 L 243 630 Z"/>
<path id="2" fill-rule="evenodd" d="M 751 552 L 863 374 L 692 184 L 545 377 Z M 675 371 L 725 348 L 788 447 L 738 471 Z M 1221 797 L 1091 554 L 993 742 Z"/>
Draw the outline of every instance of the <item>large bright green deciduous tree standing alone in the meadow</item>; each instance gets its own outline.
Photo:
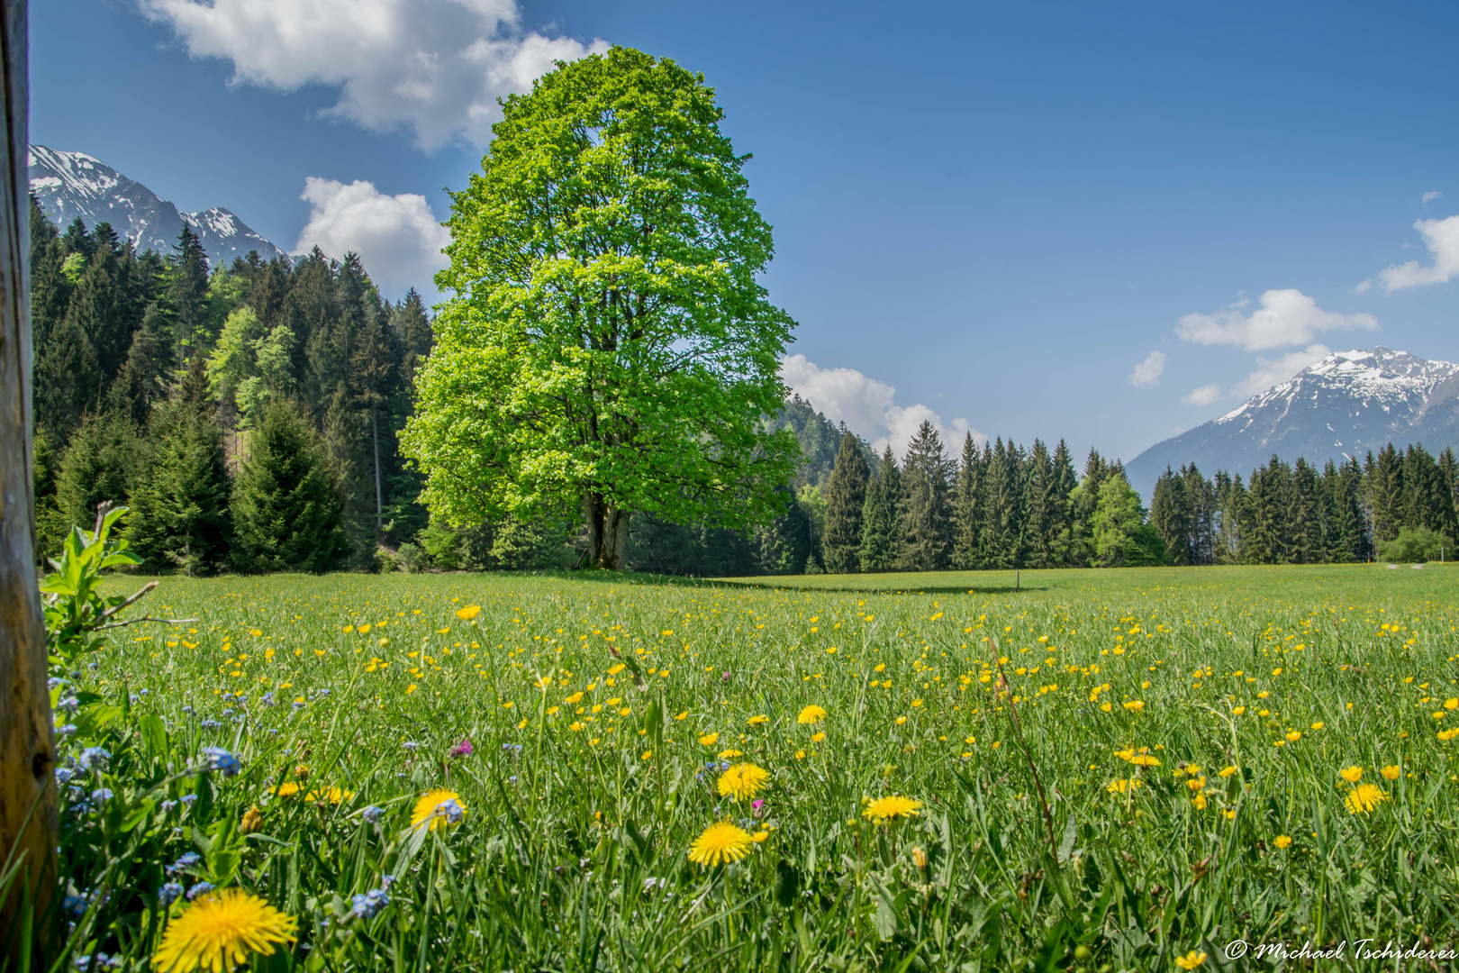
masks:
<path id="1" fill-rule="evenodd" d="M 785 508 L 794 322 L 770 228 L 703 77 L 614 48 L 512 96 L 455 194 L 436 347 L 404 448 L 458 524 L 581 505 L 624 567 L 635 512 L 727 527 Z"/>

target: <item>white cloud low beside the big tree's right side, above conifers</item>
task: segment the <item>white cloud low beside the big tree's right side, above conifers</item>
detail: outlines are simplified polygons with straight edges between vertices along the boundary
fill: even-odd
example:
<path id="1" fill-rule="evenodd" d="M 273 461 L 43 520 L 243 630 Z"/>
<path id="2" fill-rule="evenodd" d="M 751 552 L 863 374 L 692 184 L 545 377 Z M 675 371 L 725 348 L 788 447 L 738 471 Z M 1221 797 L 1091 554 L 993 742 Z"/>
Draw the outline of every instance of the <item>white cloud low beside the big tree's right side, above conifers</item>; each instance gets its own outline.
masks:
<path id="1" fill-rule="evenodd" d="M 820 368 L 804 354 L 788 354 L 781 359 L 781 378 L 801 398 L 811 403 L 826 419 L 846 423 L 846 427 L 871 441 L 871 448 L 881 452 L 887 443 L 891 452 L 903 455 L 906 445 L 924 420 L 931 422 L 943 438 L 948 452 L 961 449 L 963 436 L 973 433 L 979 445 L 988 436 L 973 429 L 966 419 L 944 423 L 943 419 L 918 403 L 897 406 L 897 389 L 886 382 L 868 378 L 854 368 Z"/>

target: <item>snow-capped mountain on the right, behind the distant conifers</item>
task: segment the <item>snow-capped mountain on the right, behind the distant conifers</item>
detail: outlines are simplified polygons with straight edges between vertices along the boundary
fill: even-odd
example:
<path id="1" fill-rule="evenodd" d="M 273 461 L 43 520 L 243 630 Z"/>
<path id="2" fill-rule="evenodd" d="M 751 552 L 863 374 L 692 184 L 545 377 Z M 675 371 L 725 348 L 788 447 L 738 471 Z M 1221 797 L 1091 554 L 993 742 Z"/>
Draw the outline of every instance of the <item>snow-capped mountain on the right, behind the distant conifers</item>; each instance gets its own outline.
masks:
<path id="1" fill-rule="evenodd" d="M 1322 465 L 1360 460 L 1392 442 L 1430 452 L 1459 445 L 1459 365 L 1406 352 L 1335 352 L 1220 419 L 1144 451 L 1125 464 L 1147 499 L 1166 465 L 1249 474 L 1272 454 Z"/>

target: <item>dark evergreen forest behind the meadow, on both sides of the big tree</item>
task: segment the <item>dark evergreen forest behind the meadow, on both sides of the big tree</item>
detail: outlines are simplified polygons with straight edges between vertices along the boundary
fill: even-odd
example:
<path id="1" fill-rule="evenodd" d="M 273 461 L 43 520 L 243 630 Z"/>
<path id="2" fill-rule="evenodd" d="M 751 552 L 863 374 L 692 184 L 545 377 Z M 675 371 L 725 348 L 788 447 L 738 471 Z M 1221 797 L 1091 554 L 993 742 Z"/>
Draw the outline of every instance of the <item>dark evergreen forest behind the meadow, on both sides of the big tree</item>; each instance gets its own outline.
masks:
<path id="1" fill-rule="evenodd" d="M 54 556 L 102 502 L 146 570 L 566 567 L 576 512 L 432 521 L 398 448 L 432 349 L 420 295 L 381 296 L 353 254 L 210 267 L 184 228 L 136 252 L 107 223 L 31 209 L 35 499 Z M 791 397 L 802 464 L 751 531 L 635 518 L 629 563 L 694 576 L 1139 565 L 1421 562 L 1459 537 L 1452 448 L 1386 446 L 1249 477 L 1167 470 L 1148 511 L 1119 461 L 924 423 L 899 461 Z"/>

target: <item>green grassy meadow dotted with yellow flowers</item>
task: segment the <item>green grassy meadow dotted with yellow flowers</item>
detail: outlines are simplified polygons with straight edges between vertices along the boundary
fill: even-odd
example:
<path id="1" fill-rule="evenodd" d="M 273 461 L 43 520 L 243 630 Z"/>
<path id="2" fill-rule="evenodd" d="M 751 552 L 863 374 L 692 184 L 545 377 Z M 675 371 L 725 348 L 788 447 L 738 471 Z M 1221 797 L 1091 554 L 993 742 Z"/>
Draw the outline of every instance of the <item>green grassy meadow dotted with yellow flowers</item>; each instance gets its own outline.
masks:
<path id="1" fill-rule="evenodd" d="M 63 786 L 76 953 L 144 969 L 163 887 L 201 881 L 296 919 L 266 970 L 1452 947 L 1456 581 L 166 578 L 139 610 L 197 621 L 112 630 L 63 689 L 98 700 Z"/>

